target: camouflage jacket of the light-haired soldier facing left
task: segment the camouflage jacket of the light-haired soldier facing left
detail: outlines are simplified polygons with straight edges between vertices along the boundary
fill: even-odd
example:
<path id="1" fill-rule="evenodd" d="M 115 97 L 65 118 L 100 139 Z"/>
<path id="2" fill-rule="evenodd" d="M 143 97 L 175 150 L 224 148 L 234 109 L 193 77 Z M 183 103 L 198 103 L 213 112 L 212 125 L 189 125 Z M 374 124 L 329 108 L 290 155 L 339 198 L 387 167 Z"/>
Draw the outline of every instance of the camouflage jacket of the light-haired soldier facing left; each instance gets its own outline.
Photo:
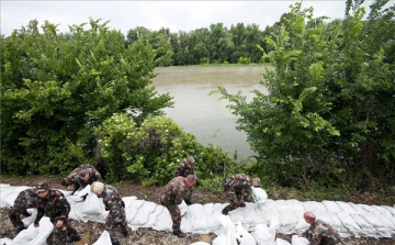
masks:
<path id="1" fill-rule="evenodd" d="M 121 212 L 125 203 L 122 201 L 122 197 L 115 187 L 105 185 L 103 192 L 98 197 L 103 198 L 105 210 L 109 210 L 111 215 L 122 215 Z"/>

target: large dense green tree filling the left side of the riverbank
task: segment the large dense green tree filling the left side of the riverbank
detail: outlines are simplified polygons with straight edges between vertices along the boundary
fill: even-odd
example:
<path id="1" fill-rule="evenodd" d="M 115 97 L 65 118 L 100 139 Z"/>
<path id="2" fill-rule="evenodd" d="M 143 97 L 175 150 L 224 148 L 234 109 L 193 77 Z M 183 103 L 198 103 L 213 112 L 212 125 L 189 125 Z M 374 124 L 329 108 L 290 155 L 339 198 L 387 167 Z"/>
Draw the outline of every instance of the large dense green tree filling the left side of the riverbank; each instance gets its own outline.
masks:
<path id="1" fill-rule="evenodd" d="M 37 21 L 1 36 L 1 163 L 4 172 L 57 174 L 92 162 L 93 127 L 113 113 L 136 122 L 171 105 L 150 86 L 155 56 L 143 41 L 125 47 L 106 22 L 59 34 Z"/>

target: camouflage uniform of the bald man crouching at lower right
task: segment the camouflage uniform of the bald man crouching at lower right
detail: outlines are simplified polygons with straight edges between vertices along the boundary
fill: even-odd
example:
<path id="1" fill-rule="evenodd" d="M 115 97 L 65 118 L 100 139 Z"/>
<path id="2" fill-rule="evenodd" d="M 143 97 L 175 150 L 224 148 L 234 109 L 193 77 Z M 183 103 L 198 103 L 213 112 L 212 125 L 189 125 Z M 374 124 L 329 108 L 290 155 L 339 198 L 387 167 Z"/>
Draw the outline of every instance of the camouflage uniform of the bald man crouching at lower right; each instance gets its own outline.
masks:
<path id="1" fill-rule="evenodd" d="M 303 237 L 306 237 L 311 245 L 329 245 L 340 244 L 341 240 L 337 232 L 327 223 L 320 220 L 316 220 L 311 226 L 302 233 Z"/>

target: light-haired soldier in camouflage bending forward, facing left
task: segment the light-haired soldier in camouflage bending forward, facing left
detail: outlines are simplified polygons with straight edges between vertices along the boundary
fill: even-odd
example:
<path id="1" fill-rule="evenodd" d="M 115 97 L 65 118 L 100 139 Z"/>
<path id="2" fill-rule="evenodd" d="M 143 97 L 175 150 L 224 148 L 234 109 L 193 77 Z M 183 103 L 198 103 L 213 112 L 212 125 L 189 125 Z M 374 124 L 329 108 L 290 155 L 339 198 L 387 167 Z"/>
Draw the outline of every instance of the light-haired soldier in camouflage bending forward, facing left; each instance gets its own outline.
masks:
<path id="1" fill-rule="evenodd" d="M 120 245 L 115 231 L 116 226 L 121 225 L 122 234 L 125 237 L 128 235 L 125 203 L 122 201 L 120 192 L 114 187 L 99 181 L 92 183 L 91 191 L 99 198 L 103 198 L 105 210 L 110 211 L 105 219 L 105 230 L 110 233 L 111 243 Z"/>

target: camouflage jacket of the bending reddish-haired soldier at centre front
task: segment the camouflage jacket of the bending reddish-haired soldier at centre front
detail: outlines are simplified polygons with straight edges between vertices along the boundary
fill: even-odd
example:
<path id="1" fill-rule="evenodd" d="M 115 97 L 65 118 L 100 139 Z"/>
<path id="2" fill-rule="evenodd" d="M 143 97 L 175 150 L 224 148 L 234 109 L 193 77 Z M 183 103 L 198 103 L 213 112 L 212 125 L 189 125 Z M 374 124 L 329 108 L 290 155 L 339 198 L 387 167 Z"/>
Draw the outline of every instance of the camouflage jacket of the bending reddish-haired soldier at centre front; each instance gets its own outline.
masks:
<path id="1" fill-rule="evenodd" d="M 184 197 L 190 193 L 185 178 L 179 176 L 170 180 L 160 193 L 160 201 L 165 204 L 181 204 Z"/>

